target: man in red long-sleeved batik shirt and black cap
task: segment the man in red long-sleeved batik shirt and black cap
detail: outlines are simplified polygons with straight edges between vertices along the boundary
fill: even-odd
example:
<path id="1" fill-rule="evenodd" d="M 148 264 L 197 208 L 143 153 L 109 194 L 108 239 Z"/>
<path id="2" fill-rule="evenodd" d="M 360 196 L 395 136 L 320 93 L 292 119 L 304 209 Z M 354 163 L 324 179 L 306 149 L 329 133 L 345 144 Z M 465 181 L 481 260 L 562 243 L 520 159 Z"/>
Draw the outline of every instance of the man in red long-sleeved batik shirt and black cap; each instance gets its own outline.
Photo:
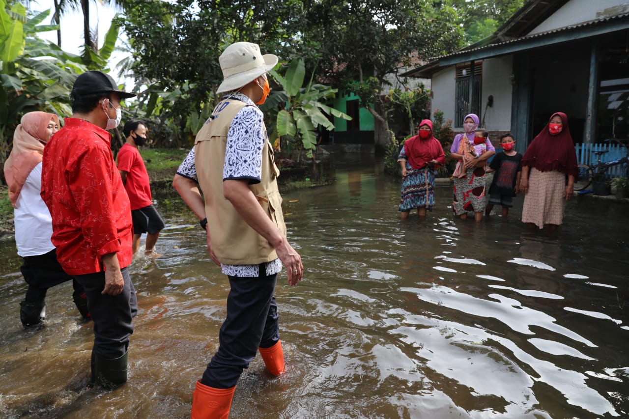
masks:
<path id="1" fill-rule="evenodd" d="M 88 71 L 70 92 L 72 118 L 43 151 L 42 198 L 52 243 L 67 274 L 83 286 L 94 321 L 91 385 L 126 382 L 129 337 L 137 313 L 131 264 L 131 208 L 106 130 L 120 123 L 121 91 L 111 76 Z"/>

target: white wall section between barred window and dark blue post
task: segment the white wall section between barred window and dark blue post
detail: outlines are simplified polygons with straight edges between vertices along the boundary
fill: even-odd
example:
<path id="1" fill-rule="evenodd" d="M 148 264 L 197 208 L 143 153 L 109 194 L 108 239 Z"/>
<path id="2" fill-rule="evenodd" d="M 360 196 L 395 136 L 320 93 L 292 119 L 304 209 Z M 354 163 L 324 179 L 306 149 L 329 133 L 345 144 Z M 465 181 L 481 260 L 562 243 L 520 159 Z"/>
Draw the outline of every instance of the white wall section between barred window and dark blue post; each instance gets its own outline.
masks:
<path id="1" fill-rule="evenodd" d="M 511 73 L 513 55 L 506 55 L 482 62 L 481 121 L 484 118 L 488 130 L 511 130 Z M 487 98 L 494 96 L 494 105 L 487 112 Z"/>

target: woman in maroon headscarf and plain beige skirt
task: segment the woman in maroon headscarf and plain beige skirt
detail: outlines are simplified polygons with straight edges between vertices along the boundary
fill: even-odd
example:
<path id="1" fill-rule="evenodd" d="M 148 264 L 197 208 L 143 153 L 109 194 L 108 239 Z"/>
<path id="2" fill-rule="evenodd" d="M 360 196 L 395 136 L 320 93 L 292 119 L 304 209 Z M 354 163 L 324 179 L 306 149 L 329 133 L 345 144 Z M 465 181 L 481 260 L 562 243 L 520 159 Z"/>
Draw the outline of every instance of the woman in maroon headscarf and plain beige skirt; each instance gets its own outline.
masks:
<path id="1" fill-rule="evenodd" d="M 526 194 L 522 221 L 539 228 L 548 224 L 549 230 L 555 230 L 564 219 L 564 202 L 572 198 L 577 174 L 568 117 L 554 113 L 522 159 L 520 191 Z"/>

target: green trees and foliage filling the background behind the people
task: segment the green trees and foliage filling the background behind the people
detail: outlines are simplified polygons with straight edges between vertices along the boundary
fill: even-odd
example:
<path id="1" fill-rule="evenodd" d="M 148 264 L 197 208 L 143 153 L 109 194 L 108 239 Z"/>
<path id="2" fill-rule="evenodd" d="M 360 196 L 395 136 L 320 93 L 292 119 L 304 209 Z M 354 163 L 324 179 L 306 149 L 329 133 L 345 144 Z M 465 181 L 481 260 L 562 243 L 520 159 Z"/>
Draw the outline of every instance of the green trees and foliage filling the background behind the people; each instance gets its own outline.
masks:
<path id="1" fill-rule="evenodd" d="M 85 46 L 81 55 L 74 55 L 38 37 L 42 31 L 67 30 L 44 24 L 51 11 L 33 13 L 28 3 L 25 6 L 15 0 L 0 0 L 1 160 L 11 148 L 13 130 L 21 115 L 35 110 L 70 115 L 69 91 L 75 77 L 89 69 L 108 72 L 116 45 L 131 54 L 121 67 L 135 80 L 138 93 L 136 100 L 127 104 L 123 118 L 145 121 L 157 147 L 191 145 L 218 100 L 216 89 L 223 78 L 218 57 L 227 45 L 237 41 L 259 43 L 263 52 L 280 57 L 276 91 L 286 91 L 280 77 L 286 77 L 291 62 L 301 60 L 303 80 L 309 81 L 301 88 L 316 91 L 317 103 L 325 106 L 331 92 L 355 92 L 362 106 L 386 130 L 389 120 L 400 113 L 408 115 L 413 126 L 428 109 L 428 92 L 401 89 L 387 98 L 383 91 L 389 90 L 387 76 L 393 75 L 406 86 L 407 81 L 399 74 L 401 65 L 411 64 L 411 57 L 428 59 L 476 42 L 508 20 L 524 0 L 106 3 L 118 4 L 121 14 L 112 22 L 100 47 L 88 35 L 93 7 L 88 1 L 60 2 L 53 11 L 55 21 L 68 7 L 81 9 L 84 14 Z M 124 45 L 120 31 L 128 37 Z M 301 115 L 303 106 L 310 105 L 299 102 L 291 115 Z M 272 113 L 272 109 L 267 110 Z M 318 116 L 314 118 L 310 123 L 316 123 Z M 304 121 L 299 125 L 306 129 L 299 130 L 301 138 L 297 140 L 306 138 L 308 142 L 302 143 L 304 150 L 309 150 L 312 128 L 326 124 L 319 121 L 309 126 Z M 277 131 L 276 122 L 276 117 L 270 118 L 270 131 Z M 120 133 L 114 131 L 114 136 L 118 137 L 114 148 L 120 147 Z"/>

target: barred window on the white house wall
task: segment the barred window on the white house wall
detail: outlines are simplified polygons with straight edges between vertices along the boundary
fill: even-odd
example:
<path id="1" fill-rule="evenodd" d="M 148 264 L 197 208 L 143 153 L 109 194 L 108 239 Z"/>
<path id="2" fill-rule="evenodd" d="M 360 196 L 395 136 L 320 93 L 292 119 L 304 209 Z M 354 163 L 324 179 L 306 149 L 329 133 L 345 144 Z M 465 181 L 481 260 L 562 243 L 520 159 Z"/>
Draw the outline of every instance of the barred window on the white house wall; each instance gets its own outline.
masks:
<path id="1" fill-rule="evenodd" d="M 463 118 L 470 113 L 475 113 L 481 119 L 482 62 L 472 63 L 457 65 L 455 126 L 463 126 Z"/>

